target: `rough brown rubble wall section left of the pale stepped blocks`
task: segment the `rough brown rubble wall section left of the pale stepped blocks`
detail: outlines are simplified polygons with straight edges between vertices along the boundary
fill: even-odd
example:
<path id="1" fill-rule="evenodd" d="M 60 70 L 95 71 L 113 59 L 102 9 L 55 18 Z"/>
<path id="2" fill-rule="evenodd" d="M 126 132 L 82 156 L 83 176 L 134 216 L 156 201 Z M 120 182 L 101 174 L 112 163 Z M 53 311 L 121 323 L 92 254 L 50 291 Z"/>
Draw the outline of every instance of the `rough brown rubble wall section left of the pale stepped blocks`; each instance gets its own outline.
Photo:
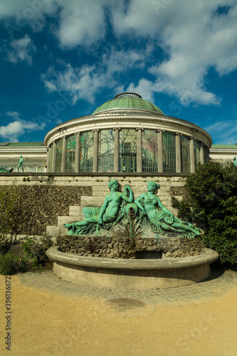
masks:
<path id="1" fill-rule="evenodd" d="M 0 187 L 1 191 L 6 187 Z M 7 187 L 16 196 L 11 234 L 46 234 L 47 225 L 57 225 L 58 215 L 68 215 L 69 206 L 80 205 L 80 197 L 91 196 L 92 187 Z"/>

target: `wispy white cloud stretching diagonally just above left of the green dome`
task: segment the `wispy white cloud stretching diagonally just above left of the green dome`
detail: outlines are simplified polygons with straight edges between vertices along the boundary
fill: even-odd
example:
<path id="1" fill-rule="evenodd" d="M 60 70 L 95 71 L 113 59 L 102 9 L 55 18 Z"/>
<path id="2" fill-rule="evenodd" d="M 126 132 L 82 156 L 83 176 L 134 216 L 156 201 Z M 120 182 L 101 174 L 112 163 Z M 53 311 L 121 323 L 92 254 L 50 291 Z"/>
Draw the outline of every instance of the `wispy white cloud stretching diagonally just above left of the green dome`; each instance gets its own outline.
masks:
<path id="1" fill-rule="evenodd" d="M 79 99 L 93 103 L 99 90 L 115 88 L 118 84 L 115 73 L 126 73 L 130 68 L 142 68 L 144 59 L 142 51 L 115 51 L 112 48 L 93 66 L 73 68 L 70 64 L 65 64 L 63 71 L 51 67 L 42 75 L 42 80 L 49 92 L 68 91 L 73 98 L 73 104 Z"/>

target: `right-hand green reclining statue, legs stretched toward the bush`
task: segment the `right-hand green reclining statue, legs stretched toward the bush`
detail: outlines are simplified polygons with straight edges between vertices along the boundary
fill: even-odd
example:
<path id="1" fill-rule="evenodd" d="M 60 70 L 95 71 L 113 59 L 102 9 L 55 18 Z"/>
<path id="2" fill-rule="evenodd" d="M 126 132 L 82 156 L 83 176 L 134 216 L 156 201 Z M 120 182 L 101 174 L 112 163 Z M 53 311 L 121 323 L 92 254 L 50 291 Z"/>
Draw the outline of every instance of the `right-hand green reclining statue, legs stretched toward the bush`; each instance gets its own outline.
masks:
<path id="1" fill-rule="evenodd" d="M 197 229 L 191 223 L 181 221 L 175 217 L 171 211 L 163 206 L 159 197 L 154 194 L 154 190 L 159 188 L 159 184 L 149 181 L 147 183 L 147 193 L 142 193 L 135 204 L 142 212 L 143 220 L 147 218 L 150 229 L 155 234 L 165 234 L 166 231 L 181 233 L 181 236 L 195 237 L 200 235 L 200 229 Z"/>

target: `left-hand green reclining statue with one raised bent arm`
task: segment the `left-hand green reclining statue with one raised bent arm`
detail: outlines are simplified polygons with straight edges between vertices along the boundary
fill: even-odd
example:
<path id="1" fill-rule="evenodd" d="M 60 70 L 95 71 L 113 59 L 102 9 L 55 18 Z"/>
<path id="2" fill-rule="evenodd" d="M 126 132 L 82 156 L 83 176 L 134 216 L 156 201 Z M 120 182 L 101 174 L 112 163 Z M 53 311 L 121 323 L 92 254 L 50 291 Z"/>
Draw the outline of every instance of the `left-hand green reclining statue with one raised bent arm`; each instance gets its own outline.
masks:
<path id="1" fill-rule="evenodd" d="M 122 219 L 126 203 L 132 203 L 134 200 L 132 189 L 126 185 L 124 193 L 117 192 L 117 179 L 110 180 L 108 187 L 111 192 L 106 195 L 101 208 L 86 206 L 83 209 L 85 220 L 63 225 L 68 229 L 68 235 L 93 234 L 99 229 L 108 230 Z"/>

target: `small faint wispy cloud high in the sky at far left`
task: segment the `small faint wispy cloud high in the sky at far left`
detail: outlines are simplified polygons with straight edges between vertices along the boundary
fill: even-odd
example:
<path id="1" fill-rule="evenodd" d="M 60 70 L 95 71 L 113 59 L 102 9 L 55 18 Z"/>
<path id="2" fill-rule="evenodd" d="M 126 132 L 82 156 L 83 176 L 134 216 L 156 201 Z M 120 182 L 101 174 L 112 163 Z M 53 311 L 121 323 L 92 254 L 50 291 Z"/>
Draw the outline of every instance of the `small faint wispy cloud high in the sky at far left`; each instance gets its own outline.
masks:
<path id="1" fill-rule="evenodd" d="M 26 35 L 18 40 L 13 40 L 9 43 L 7 52 L 7 60 L 11 63 L 26 62 L 32 64 L 32 53 L 36 51 L 31 38 Z"/>

